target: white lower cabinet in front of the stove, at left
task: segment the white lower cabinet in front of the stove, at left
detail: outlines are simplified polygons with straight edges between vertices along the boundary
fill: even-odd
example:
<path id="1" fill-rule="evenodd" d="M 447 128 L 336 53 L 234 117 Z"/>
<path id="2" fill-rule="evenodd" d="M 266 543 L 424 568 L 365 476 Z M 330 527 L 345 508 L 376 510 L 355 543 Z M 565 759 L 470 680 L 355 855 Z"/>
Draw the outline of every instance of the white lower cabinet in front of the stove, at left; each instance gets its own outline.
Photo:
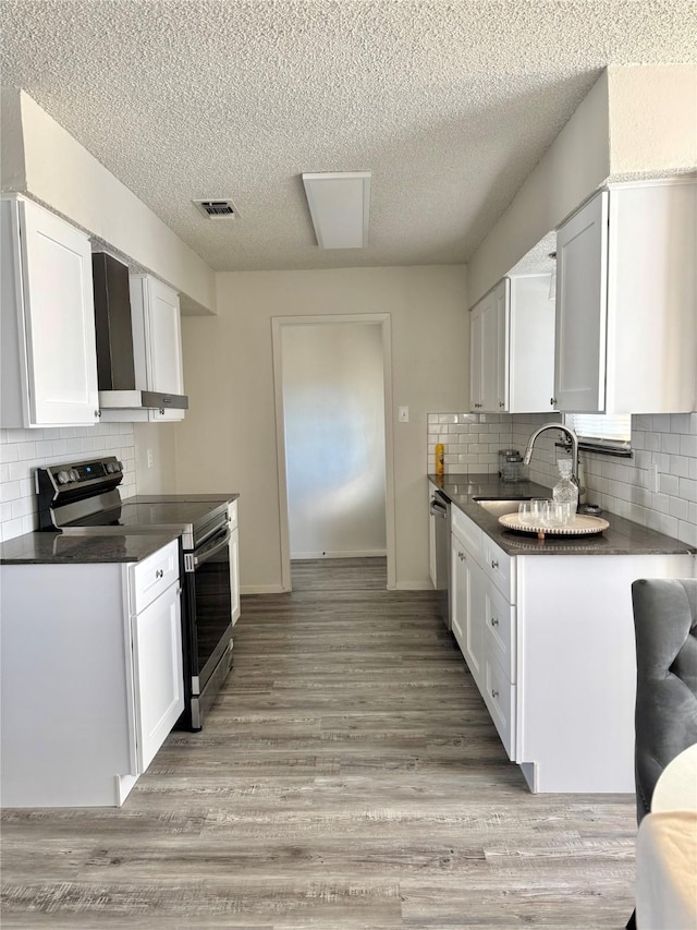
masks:
<path id="1" fill-rule="evenodd" d="M 137 564 L 1 566 L 2 806 L 118 806 L 145 772 L 184 708 L 169 566 L 176 541 Z"/>

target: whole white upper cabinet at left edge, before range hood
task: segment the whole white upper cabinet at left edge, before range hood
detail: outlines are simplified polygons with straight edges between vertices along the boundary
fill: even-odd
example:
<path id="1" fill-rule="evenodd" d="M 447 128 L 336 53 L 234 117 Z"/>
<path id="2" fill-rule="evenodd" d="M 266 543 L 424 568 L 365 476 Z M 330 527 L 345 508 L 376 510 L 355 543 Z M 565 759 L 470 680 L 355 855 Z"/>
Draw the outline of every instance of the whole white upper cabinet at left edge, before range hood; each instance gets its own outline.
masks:
<path id="1" fill-rule="evenodd" d="M 98 422 L 89 239 L 23 197 L 2 200 L 5 427 Z"/>

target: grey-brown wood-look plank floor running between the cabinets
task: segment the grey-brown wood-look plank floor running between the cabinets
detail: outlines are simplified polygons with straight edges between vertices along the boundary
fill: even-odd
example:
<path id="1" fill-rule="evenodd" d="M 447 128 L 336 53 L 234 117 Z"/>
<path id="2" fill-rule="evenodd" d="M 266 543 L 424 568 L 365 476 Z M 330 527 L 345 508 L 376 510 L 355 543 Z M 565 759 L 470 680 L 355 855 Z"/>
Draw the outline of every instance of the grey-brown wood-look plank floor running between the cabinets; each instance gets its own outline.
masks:
<path id="1" fill-rule="evenodd" d="M 243 599 L 205 730 L 121 809 L 3 812 L 4 930 L 624 927 L 633 797 L 530 795 L 433 595 L 386 591 L 383 559 L 293 581 Z"/>

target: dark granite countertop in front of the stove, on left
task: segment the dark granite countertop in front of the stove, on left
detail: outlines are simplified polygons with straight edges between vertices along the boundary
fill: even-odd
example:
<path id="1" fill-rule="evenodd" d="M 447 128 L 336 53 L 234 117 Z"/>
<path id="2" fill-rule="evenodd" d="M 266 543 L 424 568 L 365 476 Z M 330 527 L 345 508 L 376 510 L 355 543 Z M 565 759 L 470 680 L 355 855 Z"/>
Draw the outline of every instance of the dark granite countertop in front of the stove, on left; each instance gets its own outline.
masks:
<path id="1" fill-rule="evenodd" d="M 0 565 L 78 565 L 143 561 L 178 539 L 174 532 L 69 535 L 26 533 L 0 544 Z"/>

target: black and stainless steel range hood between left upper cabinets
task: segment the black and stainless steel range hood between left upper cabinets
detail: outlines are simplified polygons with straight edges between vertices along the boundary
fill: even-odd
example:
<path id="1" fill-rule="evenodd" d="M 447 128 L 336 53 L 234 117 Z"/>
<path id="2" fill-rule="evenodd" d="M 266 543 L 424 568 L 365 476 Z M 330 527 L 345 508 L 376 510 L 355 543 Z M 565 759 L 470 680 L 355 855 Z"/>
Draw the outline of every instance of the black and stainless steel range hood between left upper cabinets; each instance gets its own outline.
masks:
<path id="1" fill-rule="evenodd" d="M 106 252 L 91 256 L 99 406 L 103 410 L 187 410 L 185 395 L 137 385 L 129 268 Z"/>

